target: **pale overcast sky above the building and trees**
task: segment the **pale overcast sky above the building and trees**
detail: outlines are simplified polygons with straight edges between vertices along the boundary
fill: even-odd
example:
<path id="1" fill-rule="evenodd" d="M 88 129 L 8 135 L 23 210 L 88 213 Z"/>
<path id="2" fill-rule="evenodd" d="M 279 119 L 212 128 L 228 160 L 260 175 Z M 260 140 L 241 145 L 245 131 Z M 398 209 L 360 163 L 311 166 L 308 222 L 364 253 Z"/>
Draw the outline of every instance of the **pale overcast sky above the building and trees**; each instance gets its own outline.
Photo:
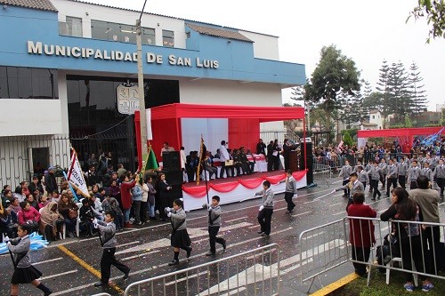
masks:
<path id="1" fill-rule="evenodd" d="M 141 10 L 143 0 L 89 2 Z M 145 12 L 197 20 L 231 28 L 279 36 L 279 59 L 306 66 L 312 75 L 324 45 L 337 48 L 355 61 L 360 78 L 373 88 L 383 60 L 401 62 L 409 70 L 414 61 L 424 78 L 430 110 L 445 103 L 445 39 L 425 44 L 425 20 L 409 20 L 417 0 L 234 1 L 148 0 Z M 143 24 L 143 20 L 142 20 Z M 289 101 L 290 91 L 283 92 Z"/>

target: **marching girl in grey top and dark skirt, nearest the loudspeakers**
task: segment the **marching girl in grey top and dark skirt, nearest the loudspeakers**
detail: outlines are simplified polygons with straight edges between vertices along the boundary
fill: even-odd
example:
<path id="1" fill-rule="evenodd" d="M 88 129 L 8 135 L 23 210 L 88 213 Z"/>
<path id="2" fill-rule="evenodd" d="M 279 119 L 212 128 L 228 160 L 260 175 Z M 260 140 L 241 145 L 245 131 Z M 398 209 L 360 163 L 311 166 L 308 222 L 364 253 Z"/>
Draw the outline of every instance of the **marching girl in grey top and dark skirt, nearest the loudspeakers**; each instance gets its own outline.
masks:
<path id="1" fill-rule="evenodd" d="M 168 263 L 169 266 L 179 264 L 179 249 L 187 252 L 187 258 L 190 257 L 192 248 L 190 247 L 190 236 L 187 233 L 187 216 L 183 209 L 184 204 L 181 199 L 175 199 L 173 209 L 166 207 L 167 216 L 172 222 L 171 245 L 174 248 L 174 260 Z"/>

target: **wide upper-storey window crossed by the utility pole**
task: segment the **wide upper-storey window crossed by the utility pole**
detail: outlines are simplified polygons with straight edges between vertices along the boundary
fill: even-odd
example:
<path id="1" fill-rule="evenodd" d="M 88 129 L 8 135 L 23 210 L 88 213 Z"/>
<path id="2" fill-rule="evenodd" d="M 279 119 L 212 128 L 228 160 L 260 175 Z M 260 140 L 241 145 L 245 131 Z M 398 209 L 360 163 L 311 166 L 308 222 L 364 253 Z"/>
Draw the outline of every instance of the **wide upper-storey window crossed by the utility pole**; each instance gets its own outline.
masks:
<path id="1" fill-rule="evenodd" d="M 91 20 L 93 39 L 136 43 L 136 27 L 109 21 Z M 142 28 L 142 44 L 156 44 L 155 29 Z"/>

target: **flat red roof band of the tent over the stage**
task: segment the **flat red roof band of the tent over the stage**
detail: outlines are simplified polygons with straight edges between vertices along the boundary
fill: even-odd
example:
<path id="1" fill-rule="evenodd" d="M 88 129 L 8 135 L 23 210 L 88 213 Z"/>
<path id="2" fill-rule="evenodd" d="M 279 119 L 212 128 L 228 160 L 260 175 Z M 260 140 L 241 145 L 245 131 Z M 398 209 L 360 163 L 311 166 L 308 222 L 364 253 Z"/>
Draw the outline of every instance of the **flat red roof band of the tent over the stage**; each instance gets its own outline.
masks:
<path id="1" fill-rule="evenodd" d="M 151 120 L 167 118 L 258 118 L 260 123 L 304 118 L 302 107 L 255 107 L 175 103 L 151 108 Z"/>

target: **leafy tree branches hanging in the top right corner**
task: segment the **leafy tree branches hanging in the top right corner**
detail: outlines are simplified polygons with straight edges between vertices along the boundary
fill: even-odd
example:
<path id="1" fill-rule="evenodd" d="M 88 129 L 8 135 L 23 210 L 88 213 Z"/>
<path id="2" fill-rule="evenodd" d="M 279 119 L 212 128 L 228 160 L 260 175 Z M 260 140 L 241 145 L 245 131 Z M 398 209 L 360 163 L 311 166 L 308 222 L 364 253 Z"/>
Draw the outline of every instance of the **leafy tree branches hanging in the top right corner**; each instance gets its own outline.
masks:
<path id="1" fill-rule="evenodd" d="M 429 37 L 426 39 L 430 43 L 433 37 L 445 38 L 445 2 L 443 0 L 418 0 L 418 4 L 409 13 L 408 20 L 414 16 L 416 20 L 426 17 L 428 25 L 431 26 Z M 407 21 L 408 21 L 407 20 Z"/>

